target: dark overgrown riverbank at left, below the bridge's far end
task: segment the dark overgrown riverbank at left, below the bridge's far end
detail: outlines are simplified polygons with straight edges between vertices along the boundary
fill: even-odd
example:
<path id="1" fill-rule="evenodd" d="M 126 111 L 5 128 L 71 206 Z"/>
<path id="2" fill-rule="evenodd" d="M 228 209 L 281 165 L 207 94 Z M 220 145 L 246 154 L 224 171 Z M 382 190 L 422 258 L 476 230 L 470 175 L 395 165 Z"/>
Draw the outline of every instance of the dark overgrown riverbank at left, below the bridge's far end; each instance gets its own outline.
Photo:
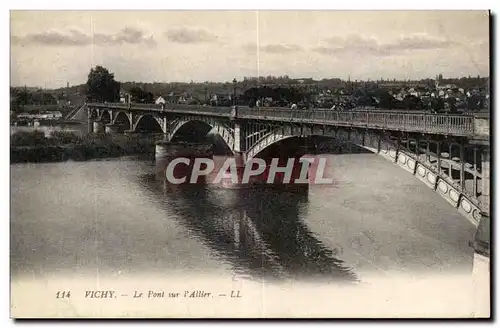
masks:
<path id="1" fill-rule="evenodd" d="M 155 135 L 76 135 L 71 132 L 17 132 L 11 136 L 10 162 L 40 163 L 131 155 L 154 156 Z"/>

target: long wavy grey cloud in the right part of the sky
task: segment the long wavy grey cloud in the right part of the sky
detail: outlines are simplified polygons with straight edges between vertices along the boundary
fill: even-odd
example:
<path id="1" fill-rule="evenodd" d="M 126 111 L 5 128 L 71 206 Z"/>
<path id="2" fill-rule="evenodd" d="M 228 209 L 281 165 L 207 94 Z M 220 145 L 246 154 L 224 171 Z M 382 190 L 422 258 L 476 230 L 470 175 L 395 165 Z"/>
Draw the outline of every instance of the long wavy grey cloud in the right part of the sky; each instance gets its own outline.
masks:
<path id="1" fill-rule="evenodd" d="M 313 50 L 324 55 L 371 55 L 390 56 L 408 51 L 445 49 L 458 45 L 458 42 L 430 37 L 427 35 L 404 36 L 390 43 L 379 43 L 376 39 L 360 35 L 331 37 L 324 45 Z"/>

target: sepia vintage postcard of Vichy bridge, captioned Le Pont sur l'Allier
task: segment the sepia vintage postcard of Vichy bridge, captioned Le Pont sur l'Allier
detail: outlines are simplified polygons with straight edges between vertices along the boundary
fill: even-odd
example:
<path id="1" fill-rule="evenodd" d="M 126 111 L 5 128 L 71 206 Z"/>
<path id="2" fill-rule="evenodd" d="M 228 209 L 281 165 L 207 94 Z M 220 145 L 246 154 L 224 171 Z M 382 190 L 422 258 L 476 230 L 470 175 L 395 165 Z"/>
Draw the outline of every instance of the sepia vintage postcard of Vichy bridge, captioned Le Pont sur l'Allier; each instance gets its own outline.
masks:
<path id="1" fill-rule="evenodd" d="M 11 11 L 23 318 L 489 318 L 488 11 Z"/>

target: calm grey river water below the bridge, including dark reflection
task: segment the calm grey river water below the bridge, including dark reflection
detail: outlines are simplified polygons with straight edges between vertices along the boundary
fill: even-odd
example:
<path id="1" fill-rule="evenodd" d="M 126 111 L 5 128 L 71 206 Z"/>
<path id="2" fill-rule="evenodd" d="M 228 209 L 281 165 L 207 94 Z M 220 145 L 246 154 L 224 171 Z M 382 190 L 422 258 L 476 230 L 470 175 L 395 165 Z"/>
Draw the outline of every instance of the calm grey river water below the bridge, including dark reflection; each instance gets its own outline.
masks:
<path id="1" fill-rule="evenodd" d="M 374 154 L 307 192 L 166 187 L 136 158 L 11 165 L 11 275 L 364 281 L 472 270 L 475 228 Z"/>

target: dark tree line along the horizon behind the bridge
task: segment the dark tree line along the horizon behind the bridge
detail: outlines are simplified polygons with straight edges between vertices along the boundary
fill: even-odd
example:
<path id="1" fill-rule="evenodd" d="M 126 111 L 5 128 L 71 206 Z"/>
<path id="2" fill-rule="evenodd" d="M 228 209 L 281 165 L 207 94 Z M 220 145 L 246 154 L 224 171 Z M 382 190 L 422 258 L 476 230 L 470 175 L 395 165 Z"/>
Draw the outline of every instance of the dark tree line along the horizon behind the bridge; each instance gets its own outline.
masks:
<path id="1" fill-rule="evenodd" d="M 462 87 L 487 86 L 489 78 L 463 77 L 460 79 L 438 78 L 441 84 L 456 84 Z M 394 80 L 393 80 L 394 81 Z M 380 88 L 380 81 L 342 81 L 338 78 L 322 79 L 315 81 L 311 78 L 291 79 L 285 76 L 245 77 L 242 81 L 234 83 L 138 83 L 116 81 L 115 76 L 102 66 L 92 68 L 87 76 L 87 82 L 83 85 L 73 87 L 75 90 L 83 91 L 87 101 L 97 102 L 119 102 L 120 91 L 127 90 L 131 101 L 137 103 L 153 103 L 155 97 L 167 96 L 171 93 L 190 95 L 197 103 L 210 104 L 210 95 L 223 93 L 231 95 L 232 100 L 228 104 L 253 105 L 259 99 L 272 99 L 275 106 L 287 106 L 290 103 L 303 103 L 307 106 L 331 107 L 336 103 L 352 102 L 354 106 L 374 106 L 387 109 L 434 109 L 441 111 L 445 107 L 452 111 L 456 109 L 455 100 L 433 98 L 422 100 L 421 98 L 406 95 L 403 100 L 396 99 L 388 92 L 388 89 Z M 391 82 L 391 80 L 387 80 Z M 432 79 L 423 79 L 418 82 L 432 85 Z M 403 82 L 404 83 L 404 82 Z M 330 100 L 315 103 L 314 97 L 320 92 L 331 90 Z M 22 110 L 25 105 L 52 105 L 57 103 L 57 98 L 63 98 L 67 89 L 53 90 L 27 90 L 26 88 L 11 88 L 11 109 Z M 58 97 L 60 93 L 60 97 Z M 346 100 L 344 94 L 349 94 Z M 236 97 L 234 97 L 236 96 Z M 467 99 L 467 107 L 477 109 L 484 107 L 484 99 L 471 96 Z"/>

